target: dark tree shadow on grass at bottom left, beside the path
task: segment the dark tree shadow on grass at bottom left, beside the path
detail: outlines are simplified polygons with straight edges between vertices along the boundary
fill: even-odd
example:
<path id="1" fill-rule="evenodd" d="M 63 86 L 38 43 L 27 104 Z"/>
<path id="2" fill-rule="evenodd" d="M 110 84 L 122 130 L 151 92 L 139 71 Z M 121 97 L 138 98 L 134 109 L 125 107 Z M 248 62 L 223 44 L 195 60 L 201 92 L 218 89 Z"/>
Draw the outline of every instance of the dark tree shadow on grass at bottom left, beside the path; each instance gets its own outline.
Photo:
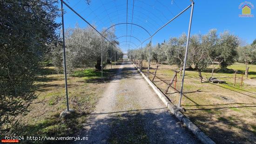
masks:
<path id="1" fill-rule="evenodd" d="M 81 117 L 84 114 L 73 112 L 66 116 L 66 118 L 59 118 L 59 113 L 54 114 L 50 118 L 37 122 L 35 124 L 25 124 L 16 129 L 17 133 L 24 136 L 24 140 L 21 140 L 21 144 L 70 144 L 70 141 L 66 140 L 29 140 L 27 136 L 35 137 L 67 137 L 72 136 L 81 129 Z"/>

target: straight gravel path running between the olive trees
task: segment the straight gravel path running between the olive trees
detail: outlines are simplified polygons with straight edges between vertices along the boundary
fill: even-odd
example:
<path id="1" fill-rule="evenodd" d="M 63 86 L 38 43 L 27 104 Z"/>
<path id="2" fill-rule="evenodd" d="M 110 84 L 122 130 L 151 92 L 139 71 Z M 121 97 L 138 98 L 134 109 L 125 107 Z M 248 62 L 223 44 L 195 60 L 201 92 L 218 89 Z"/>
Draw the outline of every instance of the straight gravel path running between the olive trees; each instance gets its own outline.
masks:
<path id="1" fill-rule="evenodd" d="M 84 124 L 77 144 L 197 144 L 145 79 L 124 61 Z"/>

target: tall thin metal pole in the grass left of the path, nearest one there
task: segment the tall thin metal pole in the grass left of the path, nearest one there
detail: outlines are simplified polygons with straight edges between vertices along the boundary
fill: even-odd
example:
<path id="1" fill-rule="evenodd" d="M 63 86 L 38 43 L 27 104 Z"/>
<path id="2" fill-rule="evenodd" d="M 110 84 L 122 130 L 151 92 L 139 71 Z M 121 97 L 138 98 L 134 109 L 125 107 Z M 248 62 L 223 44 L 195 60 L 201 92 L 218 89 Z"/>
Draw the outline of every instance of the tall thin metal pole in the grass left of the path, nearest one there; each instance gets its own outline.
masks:
<path id="1" fill-rule="evenodd" d="M 63 2 L 62 2 L 62 0 L 61 0 L 61 20 L 62 20 L 62 39 L 63 39 L 63 60 L 64 60 L 65 89 L 66 89 L 66 98 L 67 98 L 67 111 L 69 111 L 68 93 L 67 93 L 67 67 L 66 67 L 66 50 L 65 50 L 64 12 L 63 12 Z"/>

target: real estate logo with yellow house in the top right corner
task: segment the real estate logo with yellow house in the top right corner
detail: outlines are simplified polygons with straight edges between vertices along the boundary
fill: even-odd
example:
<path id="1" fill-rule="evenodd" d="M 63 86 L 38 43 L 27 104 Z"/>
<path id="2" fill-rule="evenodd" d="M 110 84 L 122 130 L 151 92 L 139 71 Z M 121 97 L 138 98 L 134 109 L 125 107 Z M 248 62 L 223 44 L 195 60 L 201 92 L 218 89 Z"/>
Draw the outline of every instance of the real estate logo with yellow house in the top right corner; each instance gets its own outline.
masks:
<path id="1" fill-rule="evenodd" d="M 251 14 L 251 9 L 254 9 L 254 5 L 249 1 L 242 2 L 238 9 L 242 9 L 242 14 L 239 14 L 239 17 L 254 17 L 253 14 Z"/>

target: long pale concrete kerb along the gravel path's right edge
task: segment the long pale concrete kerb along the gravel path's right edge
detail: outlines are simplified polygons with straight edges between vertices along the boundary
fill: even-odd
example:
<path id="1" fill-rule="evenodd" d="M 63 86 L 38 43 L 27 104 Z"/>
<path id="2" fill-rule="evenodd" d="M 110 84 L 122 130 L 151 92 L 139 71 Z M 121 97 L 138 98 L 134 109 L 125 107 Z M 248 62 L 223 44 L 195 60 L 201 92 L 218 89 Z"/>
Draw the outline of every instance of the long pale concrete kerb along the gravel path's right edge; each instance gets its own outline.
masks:
<path id="1" fill-rule="evenodd" d="M 134 65 L 134 63 L 132 62 Z M 204 132 L 202 132 L 194 123 L 192 123 L 189 118 L 186 118 L 182 112 L 180 111 L 180 108 L 178 108 L 177 105 L 173 105 L 169 99 L 156 87 L 156 85 L 148 79 L 148 77 L 141 72 L 141 69 L 138 68 L 136 65 L 134 67 L 141 73 L 144 79 L 148 82 L 148 84 L 153 88 L 157 96 L 162 100 L 164 105 L 167 106 L 167 108 L 170 110 L 171 114 L 175 115 L 179 121 L 181 121 L 183 124 L 186 125 L 186 127 L 192 131 L 193 134 L 203 143 L 203 144 L 215 144 L 215 142 L 210 139 Z"/>

